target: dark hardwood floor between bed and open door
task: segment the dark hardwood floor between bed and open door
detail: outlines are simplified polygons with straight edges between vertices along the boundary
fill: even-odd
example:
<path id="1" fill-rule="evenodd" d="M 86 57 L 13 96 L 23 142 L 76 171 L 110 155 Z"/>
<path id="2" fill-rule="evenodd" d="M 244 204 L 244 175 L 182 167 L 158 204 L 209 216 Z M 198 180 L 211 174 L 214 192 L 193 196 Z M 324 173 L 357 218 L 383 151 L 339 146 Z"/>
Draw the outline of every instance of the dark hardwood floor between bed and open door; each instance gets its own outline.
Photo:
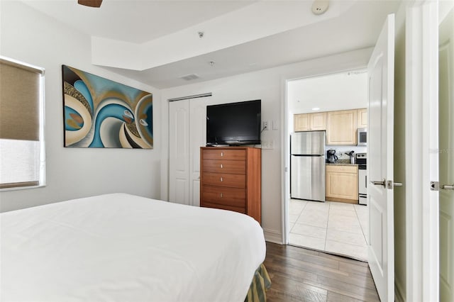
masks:
<path id="1" fill-rule="evenodd" d="M 380 301 L 366 262 L 267 242 L 267 301 Z"/>

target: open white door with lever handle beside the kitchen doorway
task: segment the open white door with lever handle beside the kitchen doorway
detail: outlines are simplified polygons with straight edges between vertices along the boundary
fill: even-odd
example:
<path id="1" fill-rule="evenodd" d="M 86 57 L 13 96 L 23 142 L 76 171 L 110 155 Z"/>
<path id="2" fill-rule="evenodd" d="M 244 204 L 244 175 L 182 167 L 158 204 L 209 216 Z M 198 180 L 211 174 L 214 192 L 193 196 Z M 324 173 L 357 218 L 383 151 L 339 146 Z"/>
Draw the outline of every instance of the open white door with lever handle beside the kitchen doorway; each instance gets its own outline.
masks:
<path id="1" fill-rule="evenodd" d="M 367 65 L 369 129 L 368 261 L 380 300 L 394 301 L 394 14 L 387 16 Z M 388 186 L 389 181 L 391 185 Z"/>

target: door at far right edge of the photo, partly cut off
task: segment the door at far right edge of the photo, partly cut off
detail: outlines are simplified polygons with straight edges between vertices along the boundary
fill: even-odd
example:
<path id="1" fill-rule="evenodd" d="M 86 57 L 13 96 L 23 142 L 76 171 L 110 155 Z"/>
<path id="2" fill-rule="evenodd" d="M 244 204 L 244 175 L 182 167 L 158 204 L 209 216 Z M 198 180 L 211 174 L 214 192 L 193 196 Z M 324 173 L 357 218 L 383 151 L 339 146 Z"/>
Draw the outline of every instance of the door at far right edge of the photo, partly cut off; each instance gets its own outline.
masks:
<path id="1" fill-rule="evenodd" d="M 454 9 L 439 28 L 440 301 L 454 301 Z"/>

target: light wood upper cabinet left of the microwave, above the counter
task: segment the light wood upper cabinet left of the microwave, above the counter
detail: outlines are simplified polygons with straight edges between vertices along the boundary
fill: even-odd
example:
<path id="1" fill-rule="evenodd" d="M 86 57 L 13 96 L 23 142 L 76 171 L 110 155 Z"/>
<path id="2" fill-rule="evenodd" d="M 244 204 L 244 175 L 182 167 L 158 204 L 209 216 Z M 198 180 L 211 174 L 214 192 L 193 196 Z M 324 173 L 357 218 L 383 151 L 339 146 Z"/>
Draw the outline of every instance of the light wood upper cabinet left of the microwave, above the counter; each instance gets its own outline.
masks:
<path id="1" fill-rule="evenodd" d="M 358 110 L 329 111 L 326 116 L 326 145 L 356 145 Z"/>

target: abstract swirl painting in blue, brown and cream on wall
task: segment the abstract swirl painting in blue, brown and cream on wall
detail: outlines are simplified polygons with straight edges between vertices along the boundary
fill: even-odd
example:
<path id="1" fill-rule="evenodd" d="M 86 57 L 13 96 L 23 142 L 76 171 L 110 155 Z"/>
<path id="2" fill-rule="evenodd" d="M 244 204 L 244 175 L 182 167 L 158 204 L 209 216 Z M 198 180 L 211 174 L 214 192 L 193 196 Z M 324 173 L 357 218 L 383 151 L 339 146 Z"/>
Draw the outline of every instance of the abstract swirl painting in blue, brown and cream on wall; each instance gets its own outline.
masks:
<path id="1" fill-rule="evenodd" d="M 153 95 L 62 65 L 65 147 L 153 149 Z"/>

